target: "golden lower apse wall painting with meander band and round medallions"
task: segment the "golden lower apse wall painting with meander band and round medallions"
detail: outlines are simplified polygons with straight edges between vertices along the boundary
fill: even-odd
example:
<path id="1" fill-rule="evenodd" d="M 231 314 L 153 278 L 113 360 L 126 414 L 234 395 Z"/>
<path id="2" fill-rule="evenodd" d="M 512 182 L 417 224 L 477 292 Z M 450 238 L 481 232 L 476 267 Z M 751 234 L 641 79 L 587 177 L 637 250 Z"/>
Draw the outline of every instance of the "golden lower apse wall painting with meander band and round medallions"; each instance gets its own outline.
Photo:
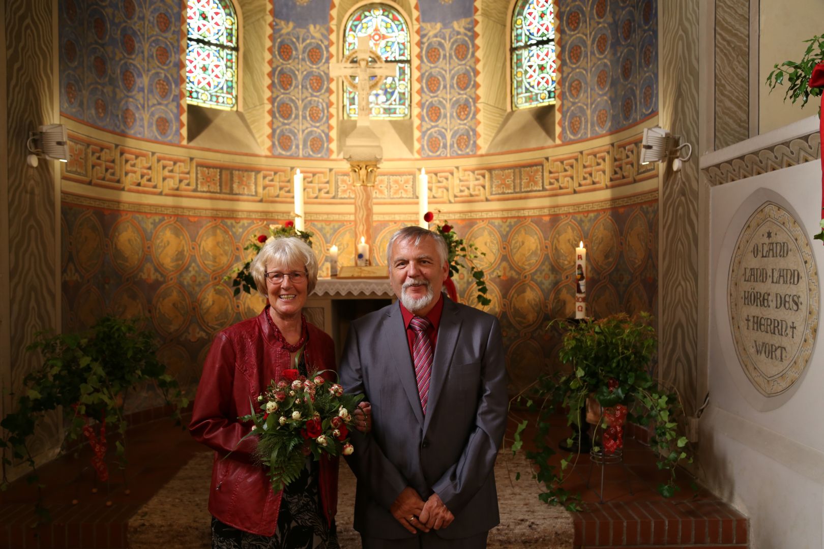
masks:
<path id="1" fill-rule="evenodd" d="M 655 310 L 658 269 L 658 193 L 655 190 L 610 198 L 553 205 L 553 197 L 590 193 L 657 179 L 654 165 L 639 165 L 641 135 L 602 147 L 563 155 L 471 165 L 465 162 L 430 171 L 430 207 L 474 202 L 449 216 L 459 235 L 487 254 L 489 312 L 504 329 L 513 388 L 550 365 L 557 334 L 545 324 L 566 318 L 574 303 L 572 252 L 578 240 L 590 250 L 588 299 L 594 314 L 625 309 Z M 173 152 L 185 151 L 178 148 Z M 190 390 L 215 333 L 260 311 L 259 296 L 232 295 L 223 280 L 245 259 L 243 246 L 283 222 L 291 208 L 289 169 L 277 165 L 241 165 L 208 157 L 140 151 L 70 133 L 71 158 L 63 165 L 63 328 L 83 328 L 105 312 L 138 316 L 162 338 L 162 356 Z M 552 152 L 551 150 L 548 152 Z M 417 170 L 382 170 L 374 201 L 386 206 L 414 204 Z M 246 207 L 204 210 L 168 207 L 152 200 L 104 199 L 98 188 L 122 196 L 211 198 Z M 347 170 L 306 170 L 306 201 L 351 203 Z M 481 204 L 498 206 L 525 198 L 530 209 L 494 215 L 477 213 Z M 283 213 L 272 213 L 282 211 Z M 475 211 L 475 212 L 473 212 Z M 269 213 L 261 213 L 269 212 Z M 399 214 L 376 217 L 372 261 L 386 263 L 386 244 L 394 230 L 413 219 Z M 328 275 L 326 250 L 339 246 L 340 264 L 354 263 L 354 226 L 349 215 L 316 214 L 307 220 L 315 233 L 321 276 Z M 461 300 L 474 303 L 471 281 L 456 278 Z M 148 392 L 136 406 L 159 404 Z"/>

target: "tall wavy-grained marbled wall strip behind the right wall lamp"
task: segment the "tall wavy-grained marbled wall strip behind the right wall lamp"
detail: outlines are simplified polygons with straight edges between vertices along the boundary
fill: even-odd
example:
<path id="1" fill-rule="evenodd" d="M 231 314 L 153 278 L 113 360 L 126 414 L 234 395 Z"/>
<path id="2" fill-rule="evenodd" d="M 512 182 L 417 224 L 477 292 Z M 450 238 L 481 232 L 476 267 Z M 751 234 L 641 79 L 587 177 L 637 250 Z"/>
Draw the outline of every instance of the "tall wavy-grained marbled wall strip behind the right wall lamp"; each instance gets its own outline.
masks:
<path id="1" fill-rule="evenodd" d="M 662 128 L 698 144 L 698 2 L 672 0 L 661 6 Z M 661 181 L 659 292 L 660 377 L 681 393 L 687 413 L 703 400 L 698 393 L 699 345 L 698 155 Z"/>

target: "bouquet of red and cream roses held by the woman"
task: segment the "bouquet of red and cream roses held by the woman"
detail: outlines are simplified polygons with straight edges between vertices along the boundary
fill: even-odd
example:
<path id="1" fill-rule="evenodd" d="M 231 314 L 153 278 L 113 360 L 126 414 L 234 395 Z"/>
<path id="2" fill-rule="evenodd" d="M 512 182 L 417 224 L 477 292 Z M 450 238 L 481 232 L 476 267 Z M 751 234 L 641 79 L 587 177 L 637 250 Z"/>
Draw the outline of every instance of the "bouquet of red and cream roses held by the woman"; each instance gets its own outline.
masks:
<path id="1" fill-rule="evenodd" d="M 328 370 L 324 370 L 328 371 Z M 269 468 L 274 491 L 300 476 L 311 454 L 316 461 L 322 454 L 349 455 L 352 412 L 363 399 L 362 394 L 344 394 L 344 388 L 325 379 L 321 372 L 309 377 L 297 370 L 284 370 L 283 379 L 272 380 L 269 387 L 250 402 L 250 414 L 241 421 L 255 425 L 249 436 L 258 437 L 255 457 Z"/>

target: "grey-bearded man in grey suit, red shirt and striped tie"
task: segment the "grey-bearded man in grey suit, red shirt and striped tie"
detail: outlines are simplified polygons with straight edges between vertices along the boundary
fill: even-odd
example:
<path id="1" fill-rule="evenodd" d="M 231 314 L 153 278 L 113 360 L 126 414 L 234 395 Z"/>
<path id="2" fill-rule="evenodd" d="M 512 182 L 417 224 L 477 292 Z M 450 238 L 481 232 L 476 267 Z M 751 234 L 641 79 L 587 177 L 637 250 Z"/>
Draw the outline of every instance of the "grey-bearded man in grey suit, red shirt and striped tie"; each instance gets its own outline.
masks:
<path id="1" fill-rule="evenodd" d="M 340 366 L 372 403 L 349 458 L 354 528 L 364 549 L 486 547 L 508 400 L 498 319 L 442 295 L 441 235 L 405 227 L 386 256 L 398 301 L 352 323 Z"/>

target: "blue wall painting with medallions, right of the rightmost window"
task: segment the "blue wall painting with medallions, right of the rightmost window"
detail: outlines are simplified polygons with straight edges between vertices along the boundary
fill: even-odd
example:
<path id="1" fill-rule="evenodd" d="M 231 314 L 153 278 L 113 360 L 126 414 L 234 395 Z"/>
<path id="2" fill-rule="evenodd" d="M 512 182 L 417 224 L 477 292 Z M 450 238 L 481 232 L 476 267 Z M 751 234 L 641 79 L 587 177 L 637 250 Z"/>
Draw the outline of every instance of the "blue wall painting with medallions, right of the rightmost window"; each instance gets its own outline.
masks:
<path id="1" fill-rule="evenodd" d="M 564 141 L 625 128 L 658 111 L 657 6 L 560 2 Z"/>

